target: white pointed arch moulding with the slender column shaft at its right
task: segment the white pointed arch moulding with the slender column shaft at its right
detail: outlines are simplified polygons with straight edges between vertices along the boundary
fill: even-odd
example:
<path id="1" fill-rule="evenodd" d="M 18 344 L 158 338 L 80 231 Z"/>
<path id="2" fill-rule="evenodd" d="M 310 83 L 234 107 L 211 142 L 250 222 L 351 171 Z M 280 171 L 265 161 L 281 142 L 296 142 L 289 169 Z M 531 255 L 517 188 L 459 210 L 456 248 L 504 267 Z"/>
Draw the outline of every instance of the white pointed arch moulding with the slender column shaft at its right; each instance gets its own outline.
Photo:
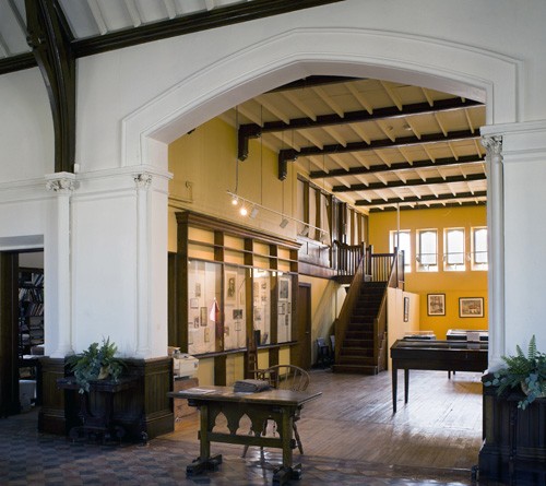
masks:
<path id="1" fill-rule="evenodd" d="M 512 58 L 444 40 L 355 28 L 295 28 L 248 46 L 174 84 L 122 120 L 122 164 L 167 169 L 166 145 L 233 106 L 309 75 L 346 75 L 399 81 L 486 102 L 487 125 L 520 121 Z M 502 179 L 488 224 L 503 239 Z M 500 199 L 499 199 L 500 198 Z M 491 205 L 491 203 L 489 204 Z M 498 241 L 491 252 L 501 252 Z M 503 354 L 503 254 L 491 254 L 490 357 Z M 496 298 L 491 298 L 495 289 Z"/>

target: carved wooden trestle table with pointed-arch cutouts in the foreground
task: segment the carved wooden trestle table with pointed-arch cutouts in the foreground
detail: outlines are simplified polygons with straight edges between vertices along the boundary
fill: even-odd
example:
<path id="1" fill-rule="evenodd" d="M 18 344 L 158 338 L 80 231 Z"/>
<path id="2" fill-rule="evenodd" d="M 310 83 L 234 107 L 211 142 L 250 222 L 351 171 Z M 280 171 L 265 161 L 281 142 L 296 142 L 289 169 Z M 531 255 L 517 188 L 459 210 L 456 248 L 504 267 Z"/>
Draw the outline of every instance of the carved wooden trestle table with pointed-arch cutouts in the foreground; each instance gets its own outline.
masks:
<path id="1" fill-rule="evenodd" d="M 300 478 L 301 464 L 293 465 L 292 450 L 296 447 L 293 424 L 299 417 L 304 404 L 321 394 L 275 389 L 260 393 L 235 393 L 233 387 L 199 387 L 167 393 L 171 399 L 188 399 L 188 404 L 199 407 L 201 413 L 200 455 L 187 466 L 186 473 L 193 475 L 216 471 L 222 463 L 222 454 L 211 455 L 211 442 L 228 442 L 280 448 L 283 450 L 283 465 L 275 470 L 273 484 Z M 219 413 L 227 418 L 229 434 L 214 431 Z M 239 420 L 244 415 L 250 418 L 253 435 L 249 435 L 248 430 L 241 435 L 237 434 Z M 268 419 L 276 423 L 280 437 L 262 435 L 263 424 Z"/>

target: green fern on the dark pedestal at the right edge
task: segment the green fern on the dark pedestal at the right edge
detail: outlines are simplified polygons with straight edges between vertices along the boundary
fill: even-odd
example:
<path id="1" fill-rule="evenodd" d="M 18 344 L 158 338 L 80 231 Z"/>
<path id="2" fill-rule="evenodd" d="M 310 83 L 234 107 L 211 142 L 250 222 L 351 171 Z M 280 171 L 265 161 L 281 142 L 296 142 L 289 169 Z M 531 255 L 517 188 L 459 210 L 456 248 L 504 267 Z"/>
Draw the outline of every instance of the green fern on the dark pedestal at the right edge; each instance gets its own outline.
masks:
<path id="1" fill-rule="evenodd" d="M 507 367 L 496 371 L 492 380 L 485 381 L 484 386 L 498 387 L 499 395 L 507 388 L 521 387 L 525 399 L 518 403 L 518 407 L 525 410 L 535 399 L 546 396 L 546 354 L 536 349 L 534 335 L 529 342 L 526 356 L 519 345 L 515 353 L 515 356 L 502 356 Z"/>

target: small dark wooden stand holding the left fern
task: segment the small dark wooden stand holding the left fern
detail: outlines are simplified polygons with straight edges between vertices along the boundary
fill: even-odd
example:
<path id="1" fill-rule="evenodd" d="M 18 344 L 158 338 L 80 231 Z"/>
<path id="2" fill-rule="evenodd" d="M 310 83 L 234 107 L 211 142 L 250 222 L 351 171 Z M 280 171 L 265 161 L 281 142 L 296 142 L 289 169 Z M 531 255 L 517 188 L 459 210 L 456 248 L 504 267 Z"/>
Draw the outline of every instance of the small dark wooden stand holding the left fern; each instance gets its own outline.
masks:
<path id="1" fill-rule="evenodd" d="M 126 435 L 126 429 L 114 420 L 114 396 L 123 390 L 136 387 L 138 378 L 124 377 L 118 380 L 95 380 L 91 382 L 90 392 L 97 393 L 104 398 L 104 408 L 98 415 L 94 415 L 90 408 L 90 393 L 78 393 L 80 386 L 73 377 L 59 378 L 57 386 L 62 390 L 74 390 L 80 396 L 79 417 L 82 425 L 72 427 L 69 436 L 75 440 L 80 435 L 86 437 L 102 436 L 103 440 L 109 440 L 112 437 L 121 439 Z"/>

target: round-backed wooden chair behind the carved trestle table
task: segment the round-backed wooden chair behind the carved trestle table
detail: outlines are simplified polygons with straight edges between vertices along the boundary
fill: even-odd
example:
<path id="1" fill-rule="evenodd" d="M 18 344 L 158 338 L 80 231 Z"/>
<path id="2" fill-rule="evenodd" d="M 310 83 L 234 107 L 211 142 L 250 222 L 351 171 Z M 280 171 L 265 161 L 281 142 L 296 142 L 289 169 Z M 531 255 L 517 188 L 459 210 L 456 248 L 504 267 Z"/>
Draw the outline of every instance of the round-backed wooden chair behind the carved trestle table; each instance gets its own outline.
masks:
<path id="1" fill-rule="evenodd" d="M 268 369 L 256 370 L 256 378 L 259 380 L 266 380 L 272 388 L 278 390 L 292 390 L 292 391 L 305 391 L 309 387 L 311 381 L 309 374 L 295 365 L 276 365 Z M 299 438 L 298 428 L 296 427 L 296 422 L 299 419 L 299 413 L 294 417 L 294 436 L 296 437 L 296 443 L 299 449 L 299 453 L 304 453 L 304 446 L 301 444 L 301 439 Z M 262 434 L 264 435 L 268 429 L 268 422 L 263 424 Z M 252 434 L 252 430 L 250 430 Z M 263 451 L 263 447 L 260 448 Z M 245 446 L 242 450 L 242 458 L 247 455 L 248 446 Z"/>

